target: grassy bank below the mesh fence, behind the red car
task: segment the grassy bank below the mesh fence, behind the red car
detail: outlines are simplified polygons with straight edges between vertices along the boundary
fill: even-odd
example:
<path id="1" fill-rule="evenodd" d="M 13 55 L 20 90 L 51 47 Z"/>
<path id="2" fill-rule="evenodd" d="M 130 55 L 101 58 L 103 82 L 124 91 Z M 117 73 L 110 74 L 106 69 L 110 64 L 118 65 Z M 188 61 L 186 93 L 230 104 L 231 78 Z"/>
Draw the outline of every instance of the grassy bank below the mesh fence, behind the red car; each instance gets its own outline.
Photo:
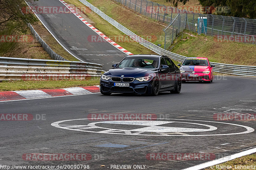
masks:
<path id="1" fill-rule="evenodd" d="M 216 37 L 185 30 L 173 45 L 173 53 L 187 57 L 207 57 L 216 63 L 256 65 L 256 46 L 253 44 L 220 42 Z"/>

